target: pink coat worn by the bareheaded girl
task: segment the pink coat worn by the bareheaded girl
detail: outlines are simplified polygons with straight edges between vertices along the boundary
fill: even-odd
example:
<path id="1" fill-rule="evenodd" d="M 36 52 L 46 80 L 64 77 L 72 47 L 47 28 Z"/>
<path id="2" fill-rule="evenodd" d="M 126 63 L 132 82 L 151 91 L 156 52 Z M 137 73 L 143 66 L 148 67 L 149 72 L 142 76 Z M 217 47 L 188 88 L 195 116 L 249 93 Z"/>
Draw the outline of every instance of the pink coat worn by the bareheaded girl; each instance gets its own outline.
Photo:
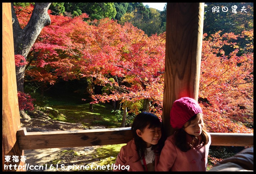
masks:
<path id="1" fill-rule="evenodd" d="M 155 157 L 155 169 L 156 169 L 160 155 L 156 154 L 155 156 L 156 156 Z M 130 166 L 128 171 L 144 171 L 141 161 L 140 160 L 136 161 L 137 159 L 139 159 L 139 155 L 138 155 L 138 152 L 136 151 L 136 145 L 133 139 L 133 140 L 130 140 L 125 146 L 123 146 L 120 149 L 120 152 L 117 155 L 116 163 L 114 164 L 115 166 L 120 165 L 120 169 L 118 168 L 113 169 L 113 171 L 127 171 L 127 170 L 122 170 L 121 166 Z"/>

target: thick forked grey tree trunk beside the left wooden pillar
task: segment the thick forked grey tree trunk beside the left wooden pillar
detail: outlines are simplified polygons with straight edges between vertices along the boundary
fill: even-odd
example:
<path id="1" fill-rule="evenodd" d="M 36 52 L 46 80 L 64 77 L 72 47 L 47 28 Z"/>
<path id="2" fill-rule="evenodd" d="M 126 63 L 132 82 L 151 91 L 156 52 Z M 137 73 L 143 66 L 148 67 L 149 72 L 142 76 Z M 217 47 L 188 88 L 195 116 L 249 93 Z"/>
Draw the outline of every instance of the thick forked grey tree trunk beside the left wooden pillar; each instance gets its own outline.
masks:
<path id="1" fill-rule="evenodd" d="M 28 24 L 21 29 L 18 22 L 15 10 L 12 4 L 12 18 L 13 18 L 13 41 L 14 54 L 20 54 L 27 60 L 28 53 L 35 43 L 38 35 L 44 26 L 51 24 L 51 18 L 48 14 L 49 6 L 52 3 L 35 3 L 32 15 Z M 24 74 L 25 65 L 16 66 L 16 81 L 17 91 L 24 92 Z"/>

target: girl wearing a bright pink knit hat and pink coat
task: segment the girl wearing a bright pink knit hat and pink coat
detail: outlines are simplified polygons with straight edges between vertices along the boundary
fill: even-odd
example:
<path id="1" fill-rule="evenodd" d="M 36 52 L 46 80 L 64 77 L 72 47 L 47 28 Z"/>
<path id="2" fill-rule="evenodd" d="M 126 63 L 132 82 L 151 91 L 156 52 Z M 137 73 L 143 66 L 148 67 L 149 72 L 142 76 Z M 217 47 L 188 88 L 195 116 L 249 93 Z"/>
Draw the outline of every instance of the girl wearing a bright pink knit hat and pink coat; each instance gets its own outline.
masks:
<path id="1" fill-rule="evenodd" d="M 189 97 L 174 101 L 170 123 L 176 131 L 165 141 L 156 171 L 206 171 L 211 136 L 197 101 Z"/>

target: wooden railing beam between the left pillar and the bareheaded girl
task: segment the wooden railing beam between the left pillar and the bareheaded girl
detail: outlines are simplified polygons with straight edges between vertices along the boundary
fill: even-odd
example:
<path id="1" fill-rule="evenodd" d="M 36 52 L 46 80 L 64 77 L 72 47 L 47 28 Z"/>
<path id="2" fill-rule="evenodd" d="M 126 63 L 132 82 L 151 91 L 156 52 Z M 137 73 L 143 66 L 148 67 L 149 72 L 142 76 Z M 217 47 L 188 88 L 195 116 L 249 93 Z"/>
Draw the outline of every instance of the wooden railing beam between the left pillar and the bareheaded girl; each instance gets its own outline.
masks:
<path id="1" fill-rule="evenodd" d="M 17 137 L 23 150 L 122 144 L 133 138 L 130 128 L 48 132 L 27 132 L 21 128 Z"/>

